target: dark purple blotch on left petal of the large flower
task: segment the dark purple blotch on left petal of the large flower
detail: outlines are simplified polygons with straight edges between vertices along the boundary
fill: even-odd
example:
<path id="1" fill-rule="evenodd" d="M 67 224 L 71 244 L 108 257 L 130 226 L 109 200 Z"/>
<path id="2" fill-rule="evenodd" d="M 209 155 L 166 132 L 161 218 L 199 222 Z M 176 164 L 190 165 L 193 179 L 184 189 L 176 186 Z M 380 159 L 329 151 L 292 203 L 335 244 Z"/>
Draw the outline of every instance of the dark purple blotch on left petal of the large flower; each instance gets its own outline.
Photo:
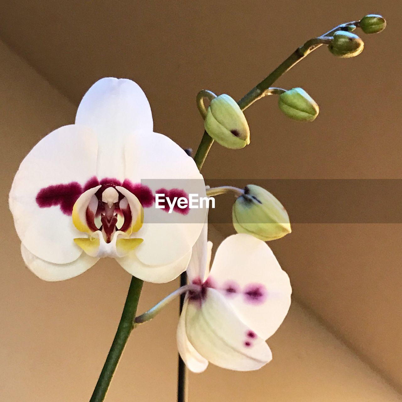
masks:
<path id="1" fill-rule="evenodd" d="M 39 190 L 36 196 L 36 203 L 39 208 L 49 208 L 59 205 L 65 215 L 71 215 L 73 206 L 81 194 L 82 187 L 77 182 L 57 184 Z"/>

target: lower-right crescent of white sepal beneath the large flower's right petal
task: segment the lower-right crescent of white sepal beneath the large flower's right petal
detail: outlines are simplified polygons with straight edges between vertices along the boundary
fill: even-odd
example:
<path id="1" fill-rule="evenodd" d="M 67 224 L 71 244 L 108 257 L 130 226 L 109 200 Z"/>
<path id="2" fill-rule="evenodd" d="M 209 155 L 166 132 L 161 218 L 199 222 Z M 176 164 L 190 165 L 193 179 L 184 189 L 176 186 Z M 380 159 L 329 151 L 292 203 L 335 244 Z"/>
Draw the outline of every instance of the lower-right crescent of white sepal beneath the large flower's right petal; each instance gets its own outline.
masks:
<path id="1" fill-rule="evenodd" d="M 137 248 L 141 247 L 142 244 Z M 166 265 L 146 265 L 136 257 L 135 251 L 136 249 L 124 257 L 116 258 L 116 261 L 131 275 L 152 283 L 166 283 L 176 279 L 186 270 L 191 258 L 190 250 L 183 257 L 172 263 Z M 155 252 L 157 253 L 159 250 L 156 249 Z"/>

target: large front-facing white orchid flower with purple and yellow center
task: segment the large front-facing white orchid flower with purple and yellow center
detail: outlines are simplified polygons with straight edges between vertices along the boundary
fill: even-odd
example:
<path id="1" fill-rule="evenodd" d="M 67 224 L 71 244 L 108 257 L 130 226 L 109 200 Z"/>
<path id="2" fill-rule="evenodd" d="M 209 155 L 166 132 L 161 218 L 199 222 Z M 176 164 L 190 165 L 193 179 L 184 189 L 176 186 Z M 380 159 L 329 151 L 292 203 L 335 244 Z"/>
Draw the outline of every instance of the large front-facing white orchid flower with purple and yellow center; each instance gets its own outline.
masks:
<path id="1" fill-rule="evenodd" d="M 26 265 L 42 279 L 59 281 L 109 256 L 145 281 L 176 278 L 204 219 L 189 209 L 156 209 L 161 183 L 165 194 L 205 195 L 193 159 L 153 132 L 142 89 L 131 80 L 99 80 L 82 99 L 75 124 L 44 137 L 12 183 L 9 205 Z"/>

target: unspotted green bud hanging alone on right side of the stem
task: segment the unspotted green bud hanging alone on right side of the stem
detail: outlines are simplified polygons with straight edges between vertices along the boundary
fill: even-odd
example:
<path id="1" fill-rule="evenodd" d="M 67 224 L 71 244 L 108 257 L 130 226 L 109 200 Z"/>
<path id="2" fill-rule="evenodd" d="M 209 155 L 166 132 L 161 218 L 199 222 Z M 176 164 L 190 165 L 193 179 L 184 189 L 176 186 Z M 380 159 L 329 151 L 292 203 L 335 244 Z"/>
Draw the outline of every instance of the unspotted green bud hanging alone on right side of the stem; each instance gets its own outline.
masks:
<path id="1" fill-rule="evenodd" d="M 320 111 L 315 100 L 303 88 L 293 88 L 280 94 L 278 105 L 287 117 L 299 121 L 313 121 Z"/>

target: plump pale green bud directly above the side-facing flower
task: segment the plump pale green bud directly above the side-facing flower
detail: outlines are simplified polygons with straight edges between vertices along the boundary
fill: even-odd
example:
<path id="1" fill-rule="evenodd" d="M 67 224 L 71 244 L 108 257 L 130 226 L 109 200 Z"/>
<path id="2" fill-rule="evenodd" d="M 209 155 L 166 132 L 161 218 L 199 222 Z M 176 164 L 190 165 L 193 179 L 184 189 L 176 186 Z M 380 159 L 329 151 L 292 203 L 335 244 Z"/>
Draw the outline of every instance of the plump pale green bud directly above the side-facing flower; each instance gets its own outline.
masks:
<path id="1" fill-rule="evenodd" d="M 286 209 L 271 193 L 256 185 L 246 186 L 244 194 L 236 199 L 232 219 L 236 232 L 265 242 L 291 233 Z"/>

